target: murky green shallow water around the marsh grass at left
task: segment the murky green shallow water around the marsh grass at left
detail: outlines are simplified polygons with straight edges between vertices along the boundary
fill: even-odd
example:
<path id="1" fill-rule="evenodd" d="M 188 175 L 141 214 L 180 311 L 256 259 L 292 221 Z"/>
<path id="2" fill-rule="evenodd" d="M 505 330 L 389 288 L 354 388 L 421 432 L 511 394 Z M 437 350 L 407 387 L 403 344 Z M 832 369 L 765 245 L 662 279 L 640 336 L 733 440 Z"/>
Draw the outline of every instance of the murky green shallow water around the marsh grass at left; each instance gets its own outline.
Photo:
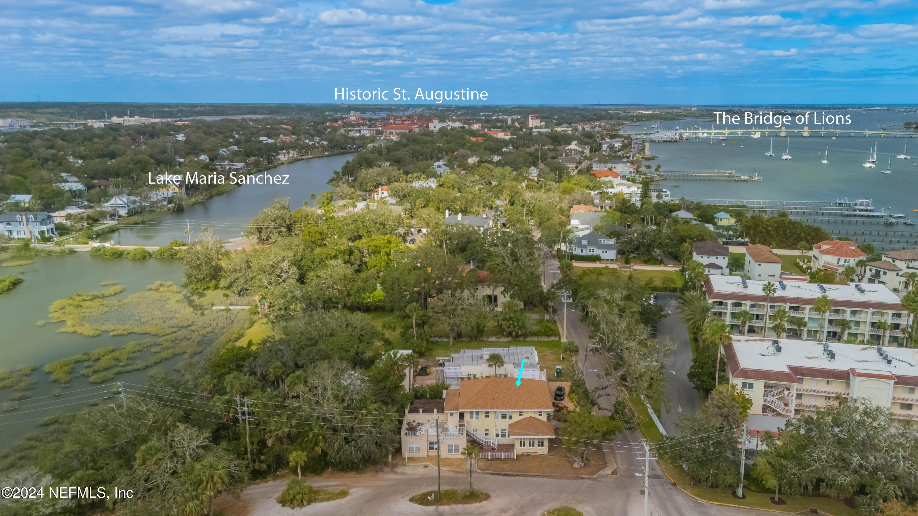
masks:
<path id="1" fill-rule="evenodd" d="M 20 409 L 0 412 L 0 449 L 25 433 L 34 431 L 38 422 L 35 420 L 78 410 L 85 401 L 99 398 L 95 394 L 85 398 L 82 395 L 106 391 L 106 387 L 78 390 L 92 387 L 87 377 L 79 374 L 78 365 L 70 386 L 62 389 L 63 393 L 60 396 L 50 396 L 60 385 L 48 382 L 49 374 L 45 373 L 41 366 L 85 351 L 106 346 L 118 348 L 128 342 L 149 337 L 138 334 L 112 337 L 107 332 L 96 337 L 59 333 L 63 322 L 37 326 L 39 320 L 48 320 L 48 307 L 51 303 L 77 292 L 105 290 L 108 286 L 99 285 L 103 281 L 118 281 L 125 286 L 124 292 L 110 299 L 124 299 L 131 294 L 145 291 L 146 286 L 157 280 L 172 281 L 176 284 L 182 282 L 182 264 L 177 260 L 106 260 L 90 256 L 88 252 L 39 257 L 34 264 L 3 267 L 0 273 L 8 275 L 20 271 L 25 272 L 22 275 L 25 282 L 12 292 L 0 296 L 0 313 L 4 314 L 3 331 L 0 334 L 0 369 L 39 365 L 39 369 L 32 373 L 32 379 L 36 380 L 38 385 L 31 391 L 31 399 L 19 402 Z M 176 357 L 157 367 L 171 370 L 179 361 L 181 357 Z M 119 375 L 118 380 L 143 384 L 149 374 L 150 370 L 134 371 Z M 0 391 L 0 402 L 6 402 L 14 394 L 13 389 Z M 38 405 L 27 407 L 33 404 Z"/>

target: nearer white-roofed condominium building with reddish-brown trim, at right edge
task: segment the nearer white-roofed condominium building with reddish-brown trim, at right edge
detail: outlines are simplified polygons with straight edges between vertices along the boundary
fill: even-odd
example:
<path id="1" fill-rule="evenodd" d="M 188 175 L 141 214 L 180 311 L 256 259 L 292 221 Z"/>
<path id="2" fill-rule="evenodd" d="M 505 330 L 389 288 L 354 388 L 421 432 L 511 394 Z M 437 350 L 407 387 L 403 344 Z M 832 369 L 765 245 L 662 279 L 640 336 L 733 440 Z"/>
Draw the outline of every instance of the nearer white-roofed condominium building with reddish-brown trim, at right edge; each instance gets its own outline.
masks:
<path id="1" fill-rule="evenodd" d="M 918 419 L 916 349 L 737 336 L 723 354 L 730 382 L 752 398 L 750 415 L 789 418 L 861 398 Z"/>

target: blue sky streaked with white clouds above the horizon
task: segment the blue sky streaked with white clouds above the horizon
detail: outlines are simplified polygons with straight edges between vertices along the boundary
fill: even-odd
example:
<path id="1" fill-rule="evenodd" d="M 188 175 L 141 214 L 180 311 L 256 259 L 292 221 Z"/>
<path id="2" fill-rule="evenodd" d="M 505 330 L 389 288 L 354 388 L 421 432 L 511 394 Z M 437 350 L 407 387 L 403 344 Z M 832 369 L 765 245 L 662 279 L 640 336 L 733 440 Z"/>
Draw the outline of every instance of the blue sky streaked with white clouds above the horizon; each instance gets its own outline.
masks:
<path id="1" fill-rule="evenodd" d="M 5 2 L 7 101 L 913 103 L 918 7 L 878 0 Z"/>

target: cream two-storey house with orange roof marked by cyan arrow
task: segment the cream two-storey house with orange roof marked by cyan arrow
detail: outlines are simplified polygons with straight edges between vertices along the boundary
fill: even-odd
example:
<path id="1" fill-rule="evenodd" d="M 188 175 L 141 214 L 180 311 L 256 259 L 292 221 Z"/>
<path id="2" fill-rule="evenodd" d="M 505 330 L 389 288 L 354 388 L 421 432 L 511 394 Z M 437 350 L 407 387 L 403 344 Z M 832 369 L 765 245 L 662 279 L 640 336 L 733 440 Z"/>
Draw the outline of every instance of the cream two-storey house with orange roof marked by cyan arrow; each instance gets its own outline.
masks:
<path id="1" fill-rule="evenodd" d="M 547 454 L 553 410 L 545 380 L 522 378 L 519 387 L 511 376 L 463 380 L 442 400 L 419 399 L 406 409 L 402 456 L 436 455 L 439 448 L 441 456 L 461 458 L 466 443 L 483 459 Z"/>

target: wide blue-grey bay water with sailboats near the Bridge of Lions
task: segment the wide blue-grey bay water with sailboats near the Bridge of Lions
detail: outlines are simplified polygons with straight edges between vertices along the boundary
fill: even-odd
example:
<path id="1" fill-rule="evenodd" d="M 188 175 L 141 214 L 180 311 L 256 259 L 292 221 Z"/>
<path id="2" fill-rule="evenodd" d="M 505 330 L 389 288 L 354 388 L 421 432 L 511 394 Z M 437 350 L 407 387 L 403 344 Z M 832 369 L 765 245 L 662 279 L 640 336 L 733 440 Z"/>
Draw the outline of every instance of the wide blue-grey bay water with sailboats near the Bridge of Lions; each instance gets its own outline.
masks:
<path id="1" fill-rule="evenodd" d="M 845 113 L 848 113 L 845 111 Z M 918 120 L 912 113 L 852 113 L 853 129 L 888 129 L 901 131 L 901 124 Z M 680 120 L 662 122 L 661 130 L 671 131 L 676 126 L 689 129 L 693 125 L 711 128 L 710 122 Z M 877 124 L 883 126 L 877 127 Z M 647 126 L 629 127 L 630 131 L 643 130 Z M 722 129 L 722 128 L 718 128 Z M 761 182 L 732 181 L 689 181 L 672 180 L 661 182 L 674 197 L 723 198 L 723 199 L 788 199 L 788 200 L 834 200 L 837 197 L 871 198 L 878 210 L 907 213 L 918 220 L 918 139 L 914 138 L 865 138 L 860 136 L 810 137 L 791 136 L 779 138 L 763 136 L 759 139 L 729 137 L 728 140 L 660 142 L 650 144 L 650 153 L 659 159 L 648 162 L 652 167 L 662 165 L 662 170 L 733 170 L 738 174 L 751 175 L 757 171 L 764 179 Z M 769 144 L 774 140 L 776 156 L 766 156 Z M 896 159 L 908 141 L 911 160 Z M 722 146 L 721 143 L 726 143 Z M 781 160 L 787 146 L 792 160 Z M 864 168 L 861 163 L 868 159 L 868 151 L 878 144 L 877 168 Z M 741 149 L 740 145 L 744 148 Z M 828 164 L 821 163 L 825 148 L 829 148 Z M 890 159 L 891 154 L 891 159 Z M 892 174 L 882 174 L 890 161 Z M 901 228 L 901 226 L 900 226 Z"/>

